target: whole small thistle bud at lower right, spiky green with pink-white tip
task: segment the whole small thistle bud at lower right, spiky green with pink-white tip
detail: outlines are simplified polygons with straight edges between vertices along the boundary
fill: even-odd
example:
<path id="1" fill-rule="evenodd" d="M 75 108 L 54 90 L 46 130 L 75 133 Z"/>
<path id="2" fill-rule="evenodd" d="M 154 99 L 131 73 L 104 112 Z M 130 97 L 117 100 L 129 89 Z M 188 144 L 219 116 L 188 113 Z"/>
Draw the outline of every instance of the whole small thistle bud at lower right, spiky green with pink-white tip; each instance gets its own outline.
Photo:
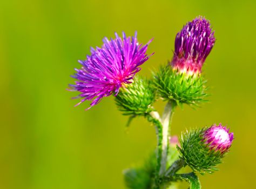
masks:
<path id="1" fill-rule="evenodd" d="M 215 167 L 222 162 L 223 157 L 228 152 L 232 144 L 233 133 L 213 130 L 216 126 L 205 127 L 203 129 L 191 130 L 181 135 L 180 158 L 192 168 L 201 174 L 213 173 L 218 169 Z M 217 128 L 218 129 L 218 128 Z M 212 137 L 208 137 L 208 131 L 211 131 Z M 228 143 L 228 145 L 227 145 Z"/>

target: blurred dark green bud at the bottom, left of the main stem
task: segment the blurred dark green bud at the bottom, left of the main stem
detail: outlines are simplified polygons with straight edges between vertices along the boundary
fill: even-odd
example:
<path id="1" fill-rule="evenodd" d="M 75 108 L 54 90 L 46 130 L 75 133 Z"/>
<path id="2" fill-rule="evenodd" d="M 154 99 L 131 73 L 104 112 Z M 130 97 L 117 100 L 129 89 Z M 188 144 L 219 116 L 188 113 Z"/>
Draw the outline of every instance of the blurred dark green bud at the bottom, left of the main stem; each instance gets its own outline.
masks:
<path id="1" fill-rule="evenodd" d="M 124 180 L 127 188 L 149 189 L 154 185 L 156 167 L 156 154 L 152 153 L 145 164 L 136 168 L 129 168 L 124 171 Z"/>

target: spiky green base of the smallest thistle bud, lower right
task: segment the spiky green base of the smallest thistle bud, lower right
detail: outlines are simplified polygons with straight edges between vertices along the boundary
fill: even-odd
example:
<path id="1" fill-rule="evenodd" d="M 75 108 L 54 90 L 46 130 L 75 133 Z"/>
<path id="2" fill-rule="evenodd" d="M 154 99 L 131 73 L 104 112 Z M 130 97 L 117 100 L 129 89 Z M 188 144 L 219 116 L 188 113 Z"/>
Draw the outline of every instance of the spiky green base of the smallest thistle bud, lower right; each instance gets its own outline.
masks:
<path id="1" fill-rule="evenodd" d="M 217 171 L 216 166 L 222 162 L 225 156 L 225 153 L 212 150 L 204 143 L 203 133 L 207 129 L 207 127 L 204 127 L 203 129 L 186 131 L 181 135 L 180 147 L 177 146 L 180 158 L 192 170 L 201 174 Z"/>

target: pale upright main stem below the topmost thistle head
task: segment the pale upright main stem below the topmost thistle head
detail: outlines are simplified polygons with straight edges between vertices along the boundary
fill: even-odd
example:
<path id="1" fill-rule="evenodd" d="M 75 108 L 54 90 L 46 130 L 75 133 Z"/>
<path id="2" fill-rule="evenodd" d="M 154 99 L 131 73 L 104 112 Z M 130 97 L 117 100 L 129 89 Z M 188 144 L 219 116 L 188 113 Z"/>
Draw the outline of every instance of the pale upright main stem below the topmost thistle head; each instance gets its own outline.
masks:
<path id="1" fill-rule="evenodd" d="M 174 106 L 175 105 L 173 102 L 168 102 L 165 106 L 164 113 L 161 118 L 163 129 L 162 129 L 162 138 L 161 138 L 162 140 L 161 141 L 161 162 L 160 162 L 159 176 L 163 176 L 166 170 L 167 152 L 169 147 L 169 133 L 170 133 L 169 125 L 171 124 Z"/>

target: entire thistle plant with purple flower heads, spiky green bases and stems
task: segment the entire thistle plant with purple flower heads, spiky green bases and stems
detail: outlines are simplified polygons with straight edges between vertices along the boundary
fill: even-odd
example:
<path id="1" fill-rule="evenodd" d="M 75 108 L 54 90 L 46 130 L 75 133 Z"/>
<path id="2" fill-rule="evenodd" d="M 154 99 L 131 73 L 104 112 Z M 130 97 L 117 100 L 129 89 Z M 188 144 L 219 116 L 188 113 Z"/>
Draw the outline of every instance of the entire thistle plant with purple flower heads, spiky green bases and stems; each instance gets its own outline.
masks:
<path id="1" fill-rule="evenodd" d="M 192 129 L 171 137 L 174 110 L 183 104 L 199 106 L 207 99 L 206 80 L 202 66 L 211 52 L 215 37 L 210 22 L 203 17 L 188 22 L 177 33 L 172 61 L 162 65 L 151 78 L 138 76 L 147 56 L 146 45 L 134 37 L 103 39 L 102 48 L 91 49 L 91 55 L 79 60 L 75 69 L 75 84 L 80 103 L 91 100 L 90 109 L 110 95 L 115 96 L 118 110 L 131 119 L 145 117 L 156 127 L 157 145 L 144 165 L 124 171 L 127 188 L 177 188 L 177 181 L 185 180 L 190 188 L 201 188 L 197 173 L 213 173 L 228 153 L 233 133 L 227 127 L 213 124 Z M 166 106 L 160 116 L 154 102 L 164 100 Z M 87 110 L 86 109 L 86 110 Z M 184 173 L 188 166 L 192 172 Z"/>

